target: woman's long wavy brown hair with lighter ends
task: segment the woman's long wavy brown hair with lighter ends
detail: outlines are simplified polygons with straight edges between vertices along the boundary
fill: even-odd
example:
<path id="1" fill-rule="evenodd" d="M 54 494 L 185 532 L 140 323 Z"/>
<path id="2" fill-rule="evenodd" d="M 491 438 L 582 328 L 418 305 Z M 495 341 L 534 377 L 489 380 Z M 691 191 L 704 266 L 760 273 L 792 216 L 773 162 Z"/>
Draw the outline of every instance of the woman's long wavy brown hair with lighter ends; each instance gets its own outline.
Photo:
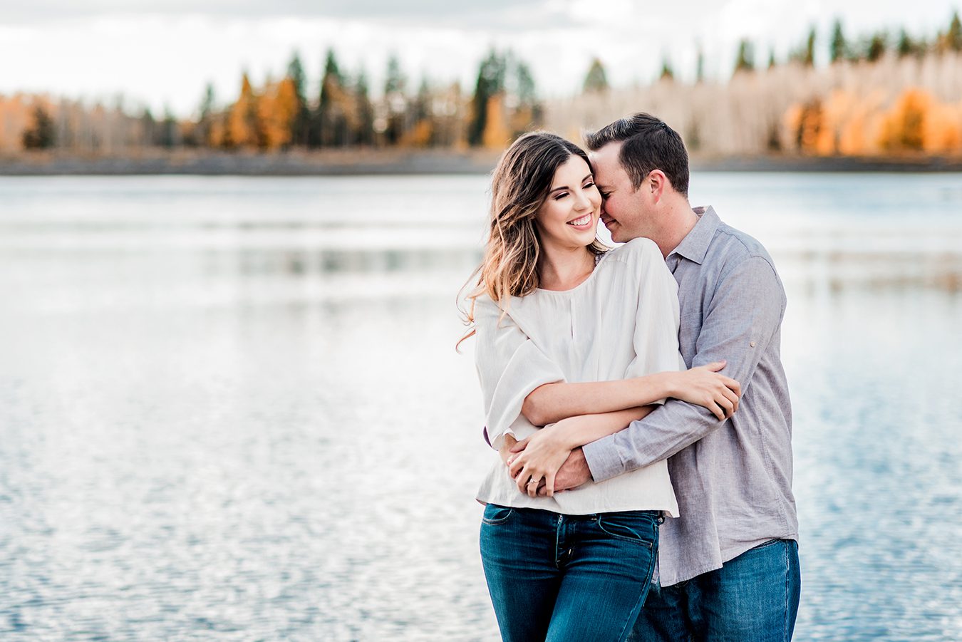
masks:
<path id="1" fill-rule="evenodd" d="M 511 296 L 524 296 L 538 287 L 541 240 L 535 215 L 551 190 L 554 172 L 572 156 L 592 167 L 581 147 L 547 132 L 525 134 L 501 155 L 492 175 L 484 258 L 461 290 L 464 293 L 471 288 L 466 297 L 469 308 L 462 309 L 466 325 L 474 322 L 474 300 L 478 296 L 491 296 L 503 316 Z M 589 249 L 602 254 L 607 247 L 595 239 Z M 458 345 L 473 334 L 471 327 Z"/>

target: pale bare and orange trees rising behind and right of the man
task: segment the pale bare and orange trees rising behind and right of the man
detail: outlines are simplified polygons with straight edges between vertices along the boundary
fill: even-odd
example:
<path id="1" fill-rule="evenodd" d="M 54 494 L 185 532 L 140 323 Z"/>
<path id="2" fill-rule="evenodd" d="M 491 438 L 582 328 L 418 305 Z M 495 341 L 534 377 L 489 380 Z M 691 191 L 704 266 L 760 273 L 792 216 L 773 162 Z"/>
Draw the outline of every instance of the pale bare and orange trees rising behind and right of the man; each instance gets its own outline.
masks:
<path id="1" fill-rule="evenodd" d="M 829 64 L 816 64 L 816 52 Z M 545 126 L 577 138 L 644 110 L 664 117 L 704 155 L 962 155 L 962 25 L 953 13 L 934 39 L 876 32 L 849 39 L 842 23 L 820 41 L 816 30 L 782 62 L 755 64 L 738 45 L 730 78 L 675 78 L 669 61 L 657 81 L 615 90 L 600 62 L 581 95 L 545 106 Z"/>

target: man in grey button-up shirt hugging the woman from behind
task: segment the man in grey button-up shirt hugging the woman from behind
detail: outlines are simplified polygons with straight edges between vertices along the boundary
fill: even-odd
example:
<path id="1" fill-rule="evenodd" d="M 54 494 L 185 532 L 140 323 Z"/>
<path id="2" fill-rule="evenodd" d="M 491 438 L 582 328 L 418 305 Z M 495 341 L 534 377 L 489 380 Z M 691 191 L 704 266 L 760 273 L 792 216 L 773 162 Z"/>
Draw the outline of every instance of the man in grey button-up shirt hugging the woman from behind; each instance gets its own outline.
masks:
<path id="1" fill-rule="evenodd" d="M 691 207 L 688 154 L 666 123 L 636 114 L 587 142 L 612 239 L 653 240 L 678 282 L 685 363 L 726 361 L 742 398 L 723 422 L 671 399 L 573 451 L 555 488 L 668 457 L 681 516 L 661 528 L 659 580 L 632 639 L 789 640 L 800 577 L 781 281 L 761 244 L 712 208 Z"/>

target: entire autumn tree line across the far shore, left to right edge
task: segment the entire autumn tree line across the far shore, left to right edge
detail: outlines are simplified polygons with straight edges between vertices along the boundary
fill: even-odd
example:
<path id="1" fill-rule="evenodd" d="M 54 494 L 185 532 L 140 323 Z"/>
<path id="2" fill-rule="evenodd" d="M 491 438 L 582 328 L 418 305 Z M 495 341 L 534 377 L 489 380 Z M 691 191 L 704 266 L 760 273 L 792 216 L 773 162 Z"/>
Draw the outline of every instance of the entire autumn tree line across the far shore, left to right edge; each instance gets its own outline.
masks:
<path id="1" fill-rule="evenodd" d="M 820 49 L 821 48 L 821 49 Z M 827 66 L 816 52 L 827 52 Z M 241 74 L 226 103 L 213 86 L 197 114 L 178 119 L 121 104 L 90 108 L 37 96 L 0 96 L 0 150 L 59 148 L 125 153 L 145 147 L 290 151 L 342 147 L 483 146 L 500 149 L 536 127 L 577 138 L 584 127 L 646 110 L 664 115 L 693 150 L 713 154 L 962 153 L 962 25 L 953 13 L 934 38 L 879 31 L 849 37 L 840 20 L 814 28 L 778 62 L 758 64 L 739 42 L 732 75 L 708 79 L 696 58 L 694 83 L 671 61 L 646 86 L 614 89 L 604 64 L 588 65 L 580 94 L 545 102 L 530 68 L 510 51 L 490 51 L 472 90 L 455 82 L 417 87 L 392 57 L 376 96 L 361 71 L 347 73 L 328 50 L 309 83 L 298 55 L 279 79 L 256 87 Z M 313 94 L 309 86 L 316 88 Z"/>

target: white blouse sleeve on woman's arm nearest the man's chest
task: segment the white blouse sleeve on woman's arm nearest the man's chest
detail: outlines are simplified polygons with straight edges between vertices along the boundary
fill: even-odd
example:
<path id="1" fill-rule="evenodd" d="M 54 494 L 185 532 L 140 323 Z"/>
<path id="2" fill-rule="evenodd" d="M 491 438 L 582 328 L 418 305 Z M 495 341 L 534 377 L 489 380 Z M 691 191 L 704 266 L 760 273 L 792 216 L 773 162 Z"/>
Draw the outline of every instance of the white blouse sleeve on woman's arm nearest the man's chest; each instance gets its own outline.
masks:
<path id="1" fill-rule="evenodd" d="M 684 370 L 678 352 L 678 284 L 658 245 L 648 239 L 635 239 L 629 246 L 635 259 L 631 270 L 637 270 L 639 288 L 633 338 L 635 358 L 624 376 Z M 655 401 L 664 402 L 665 399 Z"/>

